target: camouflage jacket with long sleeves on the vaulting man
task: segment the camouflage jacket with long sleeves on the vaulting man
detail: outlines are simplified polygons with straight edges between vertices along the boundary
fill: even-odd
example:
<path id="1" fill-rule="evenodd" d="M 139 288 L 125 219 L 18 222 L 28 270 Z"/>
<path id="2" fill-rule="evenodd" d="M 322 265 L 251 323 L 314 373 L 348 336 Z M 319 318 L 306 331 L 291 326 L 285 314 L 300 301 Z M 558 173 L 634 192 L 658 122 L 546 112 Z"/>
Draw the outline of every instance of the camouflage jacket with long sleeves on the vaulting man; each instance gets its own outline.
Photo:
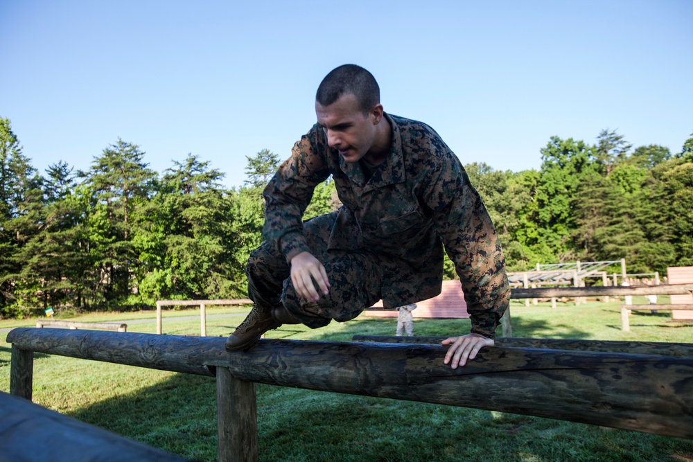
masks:
<path id="1" fill-rule="evenodd" d="M 332 175 L 343 206 L 328 248 L 380 256 L 383 305 L 441 292 L 443 248 L 462 283 L 472 332 L 495 336 L 508 306 L 505 258 L 489 214 L 457 156 L 428 125 L 385 114 L 392 148 L 369 181 L 315 124 L 265 188 L 265 240 L 287 260 L 309 251 L 301 217 L 313 188 Z"/>

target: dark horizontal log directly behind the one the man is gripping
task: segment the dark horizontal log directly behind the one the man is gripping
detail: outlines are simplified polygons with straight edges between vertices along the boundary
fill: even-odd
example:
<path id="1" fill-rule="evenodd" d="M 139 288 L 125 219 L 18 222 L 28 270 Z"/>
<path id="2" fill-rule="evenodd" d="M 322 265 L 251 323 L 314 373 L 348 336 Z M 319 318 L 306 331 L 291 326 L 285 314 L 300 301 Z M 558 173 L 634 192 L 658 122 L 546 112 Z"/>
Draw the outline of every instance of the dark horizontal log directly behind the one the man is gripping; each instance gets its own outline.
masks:
<path id="1" fill-rule="evenodd" d="M 389 344 L 440 344 L 448 337 L 394 337 L 389 335 L 354 335 L 353 341 L 378 341 Z M 630 355 L 661 355 L 693 357 L 693 344 L 672 344 L 665 341 L 614 341 L 578 339 L 515 339 L 499 337 L 496 346 L 508 348 L 549 348 L 552 350 L 601 351 Z"/>

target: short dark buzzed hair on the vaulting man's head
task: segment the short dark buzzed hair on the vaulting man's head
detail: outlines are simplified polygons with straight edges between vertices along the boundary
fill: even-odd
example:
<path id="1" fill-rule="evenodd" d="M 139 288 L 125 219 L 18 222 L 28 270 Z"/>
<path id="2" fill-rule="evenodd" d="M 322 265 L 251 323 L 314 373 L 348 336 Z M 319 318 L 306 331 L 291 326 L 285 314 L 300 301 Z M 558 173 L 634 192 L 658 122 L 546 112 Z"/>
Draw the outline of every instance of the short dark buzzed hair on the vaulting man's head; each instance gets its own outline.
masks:
<path id="1" fill-rule="evenodd" d="M 317 87 L 315 100 L 320 105 L 329 106 L 346 94 L 356 96 L 358 107 L 364 114 L 380 103 L 378 82 L 373 74 L 356 64 L 343 64 L 328 73 Z"/>

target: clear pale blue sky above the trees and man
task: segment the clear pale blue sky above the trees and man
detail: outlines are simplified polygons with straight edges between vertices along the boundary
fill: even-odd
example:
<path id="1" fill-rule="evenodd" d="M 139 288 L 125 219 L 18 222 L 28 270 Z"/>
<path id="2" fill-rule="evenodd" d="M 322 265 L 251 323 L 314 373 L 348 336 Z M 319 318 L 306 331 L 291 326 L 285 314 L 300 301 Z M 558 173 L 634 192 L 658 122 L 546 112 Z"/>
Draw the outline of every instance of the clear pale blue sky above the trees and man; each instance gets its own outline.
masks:
<path id="1" fill-rule="evenodd" d="M 188 152 L 245 179 L 286 159 L 334 67 L 462 163 L 541 166 L 551 136 L 679 152 L 693 132 L 693 1 L 0 0 L 0 116 L 43 171 L 119 137 L 158 172 Z"/>

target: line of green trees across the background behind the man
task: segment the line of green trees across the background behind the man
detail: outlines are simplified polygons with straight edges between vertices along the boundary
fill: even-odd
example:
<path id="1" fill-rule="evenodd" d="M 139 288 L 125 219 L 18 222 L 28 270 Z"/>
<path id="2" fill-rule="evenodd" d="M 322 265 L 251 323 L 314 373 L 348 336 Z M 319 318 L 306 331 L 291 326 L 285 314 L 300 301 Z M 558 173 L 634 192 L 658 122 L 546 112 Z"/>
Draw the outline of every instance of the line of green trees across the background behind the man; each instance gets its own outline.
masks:
<path id="1" fill-rule="evenodd" d="M 552 137 L 539 170 L 467 164 L 509 269 L 620 258 L 630 272 L 693 265 L 693 135 L 676 154 L 631 148 L 604 130 L 592 145 Z M 237 188 L 222 186 L 224 174 L 193 154 L 161 174 L 144 156 L 118 139 L 89 170 L 59 161 L 42 175 L 0 118 L 0 317 L 245 298 L 245 263 L 262 240 L 262 190 L 277 154 L 246 156 Z M 328 180 L 304 217 L 338 206 Z M 449 260 L 446 273 L 454 276 Z"/>

